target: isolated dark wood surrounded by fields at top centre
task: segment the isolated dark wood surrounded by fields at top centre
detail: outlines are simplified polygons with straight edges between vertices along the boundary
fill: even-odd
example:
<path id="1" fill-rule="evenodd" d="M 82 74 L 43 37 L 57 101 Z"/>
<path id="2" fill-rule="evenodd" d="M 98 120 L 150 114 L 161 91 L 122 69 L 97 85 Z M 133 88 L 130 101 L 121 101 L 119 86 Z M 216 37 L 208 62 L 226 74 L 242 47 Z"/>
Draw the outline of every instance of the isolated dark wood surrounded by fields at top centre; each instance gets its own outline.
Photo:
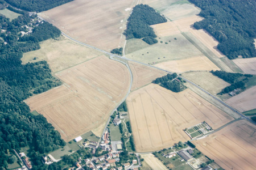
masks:
<path id="1" fill-rule="evenodd" d="M 127 29 L 125 30 L 126 39 L 142 39 L 148 44 L 158 42 L 155 32 L 150 25 L 167 22 L 167 19 L 161 16 L 154 8 L 148 5 L 137 5 L 127 20 Z"/>

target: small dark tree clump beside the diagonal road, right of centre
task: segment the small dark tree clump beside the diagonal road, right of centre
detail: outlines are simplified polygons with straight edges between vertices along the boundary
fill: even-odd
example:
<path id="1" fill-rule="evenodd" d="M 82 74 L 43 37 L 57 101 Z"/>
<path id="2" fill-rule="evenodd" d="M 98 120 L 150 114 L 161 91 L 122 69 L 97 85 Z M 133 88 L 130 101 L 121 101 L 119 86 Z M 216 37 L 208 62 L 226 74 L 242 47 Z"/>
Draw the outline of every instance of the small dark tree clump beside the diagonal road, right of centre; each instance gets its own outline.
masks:
<path id="1" fill-rule="evenodd" d="M 168 90 L 171 90 L 173 92 L 180 92 L 184 90 L 185 86 L 181 83 L 181 79 L 177 78 L 177 74 L 167 74 L 160 78 L 156 78 L 154 80 L 155 84 L 160 84 L 160 86 L 163 86 L 164 88 L 167 88 Z"/>

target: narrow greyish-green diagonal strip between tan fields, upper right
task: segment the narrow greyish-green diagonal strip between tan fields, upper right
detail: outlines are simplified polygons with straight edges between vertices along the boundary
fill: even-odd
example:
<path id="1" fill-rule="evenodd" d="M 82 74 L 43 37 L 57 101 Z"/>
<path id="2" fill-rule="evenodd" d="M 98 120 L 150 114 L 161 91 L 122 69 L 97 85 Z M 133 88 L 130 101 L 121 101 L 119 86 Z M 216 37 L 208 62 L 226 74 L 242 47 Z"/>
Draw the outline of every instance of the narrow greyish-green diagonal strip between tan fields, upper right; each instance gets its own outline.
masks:
<path id="1" fill-rule="evenodd" d="M 218 56 L 216 56 L 207 46 L 205 46 L 201 41 L 199 41 L 195 36 L 190 32 L 183 32 L 182 35 L 193 45 L 196 46 L 206 57 L 210 59 L 216 66 L 221 70 L 232 72 L 232 69 L 225 62 L 223 62 Z"/>

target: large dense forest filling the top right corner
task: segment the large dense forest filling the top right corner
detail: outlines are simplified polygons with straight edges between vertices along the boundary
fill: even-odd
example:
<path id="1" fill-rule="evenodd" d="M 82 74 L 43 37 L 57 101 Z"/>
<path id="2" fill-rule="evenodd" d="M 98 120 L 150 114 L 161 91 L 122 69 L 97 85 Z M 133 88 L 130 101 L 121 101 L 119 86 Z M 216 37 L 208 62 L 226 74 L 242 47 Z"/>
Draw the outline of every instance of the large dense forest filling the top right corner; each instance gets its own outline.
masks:
<path id="1" fill-rule="evenodd" d="M 256 57 L 256 1 L 189 0 L 201 8 L 196 29 L 206 29 L 220 44 L 217 48 L 229 59 Z"/>

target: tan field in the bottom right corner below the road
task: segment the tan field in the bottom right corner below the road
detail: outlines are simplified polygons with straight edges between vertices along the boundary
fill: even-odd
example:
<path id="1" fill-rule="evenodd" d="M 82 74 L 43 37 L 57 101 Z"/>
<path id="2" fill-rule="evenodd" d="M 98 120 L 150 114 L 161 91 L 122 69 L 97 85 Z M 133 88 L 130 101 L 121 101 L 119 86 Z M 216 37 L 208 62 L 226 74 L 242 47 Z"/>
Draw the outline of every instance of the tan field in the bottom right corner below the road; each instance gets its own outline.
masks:
<path id="1" fill-rule="evenodd" d="M 224 169 L 256 169 L 256 126 L 245 120 L 193 143 Z"/>

